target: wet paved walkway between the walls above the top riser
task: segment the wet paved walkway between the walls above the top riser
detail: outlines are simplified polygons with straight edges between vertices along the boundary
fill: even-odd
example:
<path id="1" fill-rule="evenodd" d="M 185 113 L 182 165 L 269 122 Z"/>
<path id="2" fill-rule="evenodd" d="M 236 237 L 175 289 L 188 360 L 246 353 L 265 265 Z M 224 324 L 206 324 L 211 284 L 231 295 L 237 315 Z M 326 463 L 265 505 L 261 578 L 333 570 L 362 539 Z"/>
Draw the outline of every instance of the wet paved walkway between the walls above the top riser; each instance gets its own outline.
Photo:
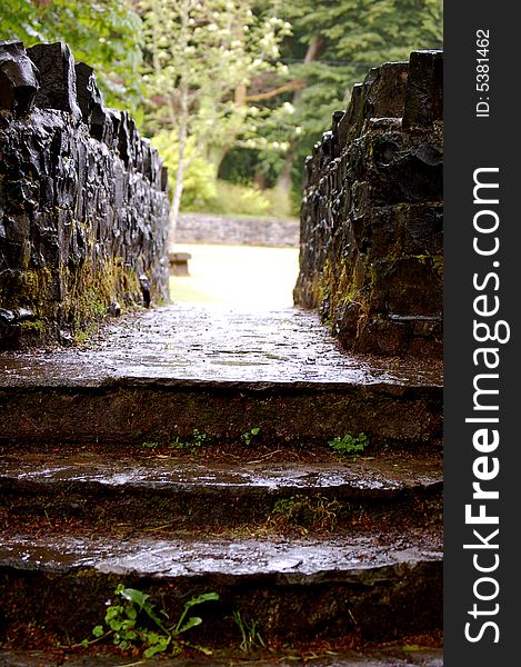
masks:
<path id="1" fill-rule="evenodd" d="M 82 349 L 0 355 L 0 387 L 107 378 L 441 386 L 432 365 L 343 354 L 315 312 L 176 303 L 113 320 Z"/>

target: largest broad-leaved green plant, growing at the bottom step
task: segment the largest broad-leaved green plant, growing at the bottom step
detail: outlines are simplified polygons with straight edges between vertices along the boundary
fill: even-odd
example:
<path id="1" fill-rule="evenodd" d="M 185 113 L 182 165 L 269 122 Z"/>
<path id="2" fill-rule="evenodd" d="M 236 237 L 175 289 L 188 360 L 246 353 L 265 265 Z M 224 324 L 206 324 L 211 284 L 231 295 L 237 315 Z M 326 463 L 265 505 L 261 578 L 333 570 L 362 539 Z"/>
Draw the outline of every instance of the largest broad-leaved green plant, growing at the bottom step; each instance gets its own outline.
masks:
<path id="1" fill-rule="evenodd" d="M 211 654 L 208 648 L 194 646 L 181 639 L 180 635 L 202 623 L 199 616 L 187 618 L 190 609 L 202 603 L 218 600 L 217 593 L 206 593 L 188 600 L 178 621 L 171 626 L 168 625 L 168 614 L 164 609 L 158 614 L 148 594 L 134 588 L 126 588 L 123 584 L 119 584 L 114 595 L 119 599 L 116 604 L 109 605 L 104 625 L 96 626 L 92 629 L 94 639 L 90 641 L 84 639 L 82 646 L 87 647 L 92 641 L 111 637 L 112 643 L 120 650 L 138 647 L 143 649 L 146 658 L 151 658 L 168 649 L 172 655 L 178 655 L 183 647 L 197 648 L 204 654 Z"/>

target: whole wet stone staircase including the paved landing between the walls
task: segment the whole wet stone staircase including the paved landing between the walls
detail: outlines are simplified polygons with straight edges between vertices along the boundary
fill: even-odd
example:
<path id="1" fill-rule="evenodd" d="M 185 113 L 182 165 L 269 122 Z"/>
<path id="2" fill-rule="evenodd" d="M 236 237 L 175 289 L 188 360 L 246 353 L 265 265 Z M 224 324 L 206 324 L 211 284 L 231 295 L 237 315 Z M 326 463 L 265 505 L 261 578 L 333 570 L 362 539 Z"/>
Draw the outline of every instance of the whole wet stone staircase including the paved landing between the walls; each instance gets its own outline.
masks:
<path id="1" fill-rule="evenodd" d="M 442 665 L 435 365 L 179 303 L 0 365 L 0 665 L 149 664 L 80 646 L 120 583 L 219 595 L 162 665 Z"/>

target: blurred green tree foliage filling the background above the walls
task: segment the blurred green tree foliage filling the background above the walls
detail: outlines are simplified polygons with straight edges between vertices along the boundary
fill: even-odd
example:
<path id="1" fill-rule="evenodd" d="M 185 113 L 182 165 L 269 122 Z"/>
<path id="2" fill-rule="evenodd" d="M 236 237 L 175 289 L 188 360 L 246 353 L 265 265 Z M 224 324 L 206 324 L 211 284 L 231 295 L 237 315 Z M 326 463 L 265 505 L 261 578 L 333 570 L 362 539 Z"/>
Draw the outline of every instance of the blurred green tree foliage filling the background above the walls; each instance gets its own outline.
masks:
<path id="1" fill-rule="evenodd" d="M 167 156 L 174 215 L 181 197 L 208 203 L 218 175 L 297 201 L 353 84 L 443 39 L 442 0 L 3 0 L 0 30 L 96 69 Z"/>

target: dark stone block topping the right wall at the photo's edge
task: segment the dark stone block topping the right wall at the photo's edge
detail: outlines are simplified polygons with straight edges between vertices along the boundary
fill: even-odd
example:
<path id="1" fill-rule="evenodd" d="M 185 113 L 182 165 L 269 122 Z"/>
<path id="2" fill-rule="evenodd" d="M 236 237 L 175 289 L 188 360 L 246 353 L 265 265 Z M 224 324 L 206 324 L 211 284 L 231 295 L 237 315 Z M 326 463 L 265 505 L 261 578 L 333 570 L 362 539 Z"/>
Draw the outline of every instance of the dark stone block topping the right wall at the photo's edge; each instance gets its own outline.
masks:
<path id="1" fill-rule="evenodd" d="M 413 51 L 403 127 L 424 127 L 443 119 L 443 51 Z"/>

